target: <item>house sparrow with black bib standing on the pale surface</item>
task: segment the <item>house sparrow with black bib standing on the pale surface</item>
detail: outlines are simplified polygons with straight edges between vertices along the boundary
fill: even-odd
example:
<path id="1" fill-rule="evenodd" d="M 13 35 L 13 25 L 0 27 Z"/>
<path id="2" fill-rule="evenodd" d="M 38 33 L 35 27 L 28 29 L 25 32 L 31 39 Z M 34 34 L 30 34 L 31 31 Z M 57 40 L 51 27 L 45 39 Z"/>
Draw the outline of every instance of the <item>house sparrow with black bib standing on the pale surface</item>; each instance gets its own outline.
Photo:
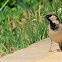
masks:
<path id="1" fill-rule="evenodd" d="M 48 26 L 49 29 L 48 34 L 51 39 L 51 45 L 52 45 L 52 41 L 58 43 L 59 45 L 58 51 L 61 51 L 62 50 L 62 24 L 58 16 L 54 13 L 47 14 L 45 18 L 50 22 Z M 49 51 L 50 52 L 52 51 L 51 47 Z"/>

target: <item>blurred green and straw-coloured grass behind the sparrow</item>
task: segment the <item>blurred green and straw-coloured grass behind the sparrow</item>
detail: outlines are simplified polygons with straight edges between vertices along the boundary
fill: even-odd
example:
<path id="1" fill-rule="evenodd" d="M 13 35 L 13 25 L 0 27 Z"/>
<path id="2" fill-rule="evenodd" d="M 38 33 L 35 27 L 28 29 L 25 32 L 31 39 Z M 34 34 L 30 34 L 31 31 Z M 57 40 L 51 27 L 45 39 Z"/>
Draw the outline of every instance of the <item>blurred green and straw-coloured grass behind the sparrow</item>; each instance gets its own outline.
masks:
<path id="1" fill-rule="evenodd" d="M 51 12 L 62 20 L 62 0 L 0 0 L 0 56 L 47 38 Z"/>

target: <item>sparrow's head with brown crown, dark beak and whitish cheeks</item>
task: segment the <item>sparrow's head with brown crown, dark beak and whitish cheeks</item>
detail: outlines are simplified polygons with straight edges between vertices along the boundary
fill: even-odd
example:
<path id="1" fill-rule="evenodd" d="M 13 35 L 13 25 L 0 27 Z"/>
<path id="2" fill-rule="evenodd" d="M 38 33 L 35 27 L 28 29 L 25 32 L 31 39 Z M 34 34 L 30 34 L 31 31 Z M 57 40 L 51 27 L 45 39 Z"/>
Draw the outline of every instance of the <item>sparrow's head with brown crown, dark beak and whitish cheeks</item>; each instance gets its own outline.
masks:
<path id="1" fill-rule="evenodd" d="M 58 16 L 54 13 L 50 13 L 50 14 L 47 14 L 45 16 L 45 18 L 49 21 L 49 22 L 52 22 L 52 23 L 56 23 L 56 24 L 60 24 L 60 20 L 58 18 Z"/>

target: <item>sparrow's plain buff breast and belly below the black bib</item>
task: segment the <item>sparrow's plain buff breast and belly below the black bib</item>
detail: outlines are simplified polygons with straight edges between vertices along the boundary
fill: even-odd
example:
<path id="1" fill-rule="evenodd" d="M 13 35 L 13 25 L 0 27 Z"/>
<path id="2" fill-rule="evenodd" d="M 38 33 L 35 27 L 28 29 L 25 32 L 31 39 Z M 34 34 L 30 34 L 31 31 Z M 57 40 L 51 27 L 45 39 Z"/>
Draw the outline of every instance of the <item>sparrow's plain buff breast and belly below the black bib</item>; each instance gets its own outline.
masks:
<path id="1" fill-rule="evenodd" d="M 52 41 L 60 43 L 62 42 L 62 24 L 59 25 L 59 29 L 54 31 L 50 28 L 49 25 L 49 37 Z"/>

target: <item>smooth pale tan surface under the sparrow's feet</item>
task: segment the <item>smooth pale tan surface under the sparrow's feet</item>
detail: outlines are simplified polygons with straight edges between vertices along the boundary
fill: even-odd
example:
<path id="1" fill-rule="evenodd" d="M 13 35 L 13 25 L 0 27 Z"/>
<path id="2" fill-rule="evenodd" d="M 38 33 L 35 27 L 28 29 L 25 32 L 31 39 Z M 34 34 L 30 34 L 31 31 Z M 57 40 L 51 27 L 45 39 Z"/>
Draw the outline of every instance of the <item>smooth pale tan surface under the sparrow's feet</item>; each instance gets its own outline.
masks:
<path id="1" fill-rule="evenodd" d="M 50 40 L 47 38 L 0 58 L 0 62 L 55 62 L 62 59 L 62 52 L 48 52 L 49 47 Z M 58 45 L 53 43 L 52 49 L 58 49 Z"/>

